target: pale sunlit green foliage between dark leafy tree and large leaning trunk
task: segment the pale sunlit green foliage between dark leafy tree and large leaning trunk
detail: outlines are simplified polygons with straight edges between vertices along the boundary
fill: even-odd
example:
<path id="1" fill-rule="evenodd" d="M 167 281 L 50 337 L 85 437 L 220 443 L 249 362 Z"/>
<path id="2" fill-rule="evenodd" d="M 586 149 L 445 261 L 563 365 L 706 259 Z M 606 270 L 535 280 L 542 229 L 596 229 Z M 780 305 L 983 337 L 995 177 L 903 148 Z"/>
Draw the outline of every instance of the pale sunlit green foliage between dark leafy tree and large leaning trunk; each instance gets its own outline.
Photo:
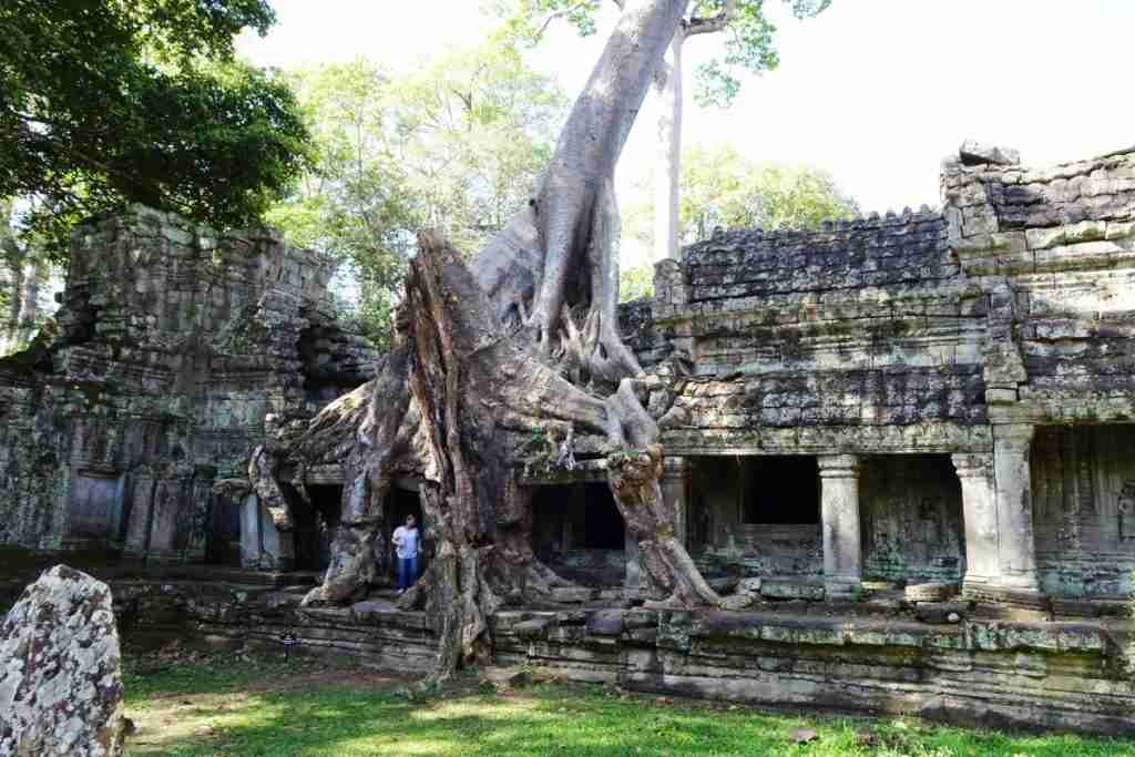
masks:
<path id="1" fill-rule="evenodd" d="M 480 249 L 531 196 L 566 108 L 554 81 L 497 41 L 405 74 L 355 60 L 289 79 L 317 159 L 269 222 L 348 263 L 360 321 L 379 342 L 417 232 Z"/>

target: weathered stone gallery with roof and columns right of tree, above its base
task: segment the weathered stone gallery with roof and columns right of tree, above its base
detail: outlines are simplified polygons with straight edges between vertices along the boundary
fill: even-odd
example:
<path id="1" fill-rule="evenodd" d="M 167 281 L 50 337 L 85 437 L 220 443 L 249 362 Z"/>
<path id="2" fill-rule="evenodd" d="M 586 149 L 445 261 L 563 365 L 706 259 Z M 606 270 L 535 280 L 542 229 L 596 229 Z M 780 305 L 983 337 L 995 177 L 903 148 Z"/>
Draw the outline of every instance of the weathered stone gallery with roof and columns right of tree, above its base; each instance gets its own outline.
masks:
<path id="1" fill-rule="evenodd" d="M 1135 423 L 1135 151 L 1033 169 L 966 143 L 941 182 L 941 212 L 721 232 L 661 262 L 653 328 L 692 373 L 671 386 L 666 452 L 821 459 L 830 591 L 866 572 L 1034 606 L 1042 583 L 1121 596 L 1127 472 L 1083 435 L 1125 432 L 1081 427 Z M 1082 439 L 1075 476 L 1037 473 L 1037 454 L 1059 468 L 1044 426 Z M 876 457 L 925 454 L 956 472 Z M 1056 480 L 1081 482 L 1034 501 Z M 763 571 L 773 550 L 713 502 L 725 489 L 691 480 L 690 533 Z M 699 535 L 706 519 L 724 531 Z"/>

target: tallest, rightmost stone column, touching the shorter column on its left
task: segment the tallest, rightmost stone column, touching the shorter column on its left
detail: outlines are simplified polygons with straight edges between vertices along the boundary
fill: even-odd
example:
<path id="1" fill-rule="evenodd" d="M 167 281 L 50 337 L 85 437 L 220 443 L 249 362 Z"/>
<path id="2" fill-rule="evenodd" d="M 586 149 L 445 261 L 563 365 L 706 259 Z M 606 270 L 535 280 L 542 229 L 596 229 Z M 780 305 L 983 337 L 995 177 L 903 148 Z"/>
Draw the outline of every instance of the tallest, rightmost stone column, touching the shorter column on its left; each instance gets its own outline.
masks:
<path id="1" fill-rule="evenodd" d="M 993 426 L 993 474 L 997 482 L 1001 570 L 999 583 L 1025 591 L 1040 591 L 1028 468 L 1028 451 L 1035 428 L 1031 423 Z"/>

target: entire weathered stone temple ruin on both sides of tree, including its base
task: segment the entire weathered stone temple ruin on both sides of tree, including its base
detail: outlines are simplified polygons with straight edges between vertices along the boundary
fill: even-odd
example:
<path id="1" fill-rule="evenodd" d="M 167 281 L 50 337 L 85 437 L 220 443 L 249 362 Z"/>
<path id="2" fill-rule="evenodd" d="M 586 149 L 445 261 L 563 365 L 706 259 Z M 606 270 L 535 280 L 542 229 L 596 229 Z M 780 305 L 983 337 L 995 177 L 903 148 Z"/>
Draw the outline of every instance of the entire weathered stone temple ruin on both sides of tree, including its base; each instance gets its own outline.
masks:
<path id="1" fill-rule="evenodd" d="M 644 367 L 688 358 L 648 409 L 663 491 L 703 573 L 745 602 L 637 607 L 600 462 L 532 472 L 532 546 L 580 588 L 497 613 L 499 661 L 1135 731 L 1135 151 L 1027 168 L 967 143 L 941 185 L 941 210 L 718 232 L 657 266 L 653 301 L 621 319 Z M 327 264 L 144 211 L 76 245 L 64 336 L 0 363 L 5 541 L 241 565 L 208 584 L 121 579 L 116 596 L 162 609 L 140 615 L 154 633 L 294 632 L 427 670 L 422 613 L 299 606 L 303 571 L 329 560 L 343 471 L 289 449 L 288 429 L 360 403 L 346 393 L 375 359 L 330 317 Z M 278 490 L 258 487 L 263 465 L 287 468 Z M 396 488 L 384 528 L 417 512 L 417 481 Z"/>

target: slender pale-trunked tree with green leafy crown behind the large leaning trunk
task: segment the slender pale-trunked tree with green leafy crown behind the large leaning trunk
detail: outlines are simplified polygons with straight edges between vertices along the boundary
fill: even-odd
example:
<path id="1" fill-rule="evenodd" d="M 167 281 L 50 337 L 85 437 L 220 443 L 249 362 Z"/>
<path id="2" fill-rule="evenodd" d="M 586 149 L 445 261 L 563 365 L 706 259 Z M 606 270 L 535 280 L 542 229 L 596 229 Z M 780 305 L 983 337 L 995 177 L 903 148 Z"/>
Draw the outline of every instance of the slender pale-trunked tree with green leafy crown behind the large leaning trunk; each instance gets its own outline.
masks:
<path id="1" fill-rule="evenodd" d="M 624 0 L 611 0 L 622 8 Z M 797 18 L 808 18 L 826 9 L 831 0 L 784 0 Z M 566 22 L 581 35 L 594 34 L 606 0 L 497 0 L 496 11 L 505 27 L 529 43 L 539 42 L 548 26 Z M 687 40 L 717 35 L 718 54 L 700 65 L 695 76 L 695 99 L 699 104 L 728 107 L 741 87 L 745 73 L 759 74 L 780 64 L 774 45 L 776 27 L 765 14 L 764 0 L 693 0 L 683 14 L 666 60 L 655 73 L 655 92 L 662 99 L 658 117 L 658 152 L 655 170 L 654 253 L 676 258 L 680 244 L 679 207 L 682 154 L 683 49 Z"/>

